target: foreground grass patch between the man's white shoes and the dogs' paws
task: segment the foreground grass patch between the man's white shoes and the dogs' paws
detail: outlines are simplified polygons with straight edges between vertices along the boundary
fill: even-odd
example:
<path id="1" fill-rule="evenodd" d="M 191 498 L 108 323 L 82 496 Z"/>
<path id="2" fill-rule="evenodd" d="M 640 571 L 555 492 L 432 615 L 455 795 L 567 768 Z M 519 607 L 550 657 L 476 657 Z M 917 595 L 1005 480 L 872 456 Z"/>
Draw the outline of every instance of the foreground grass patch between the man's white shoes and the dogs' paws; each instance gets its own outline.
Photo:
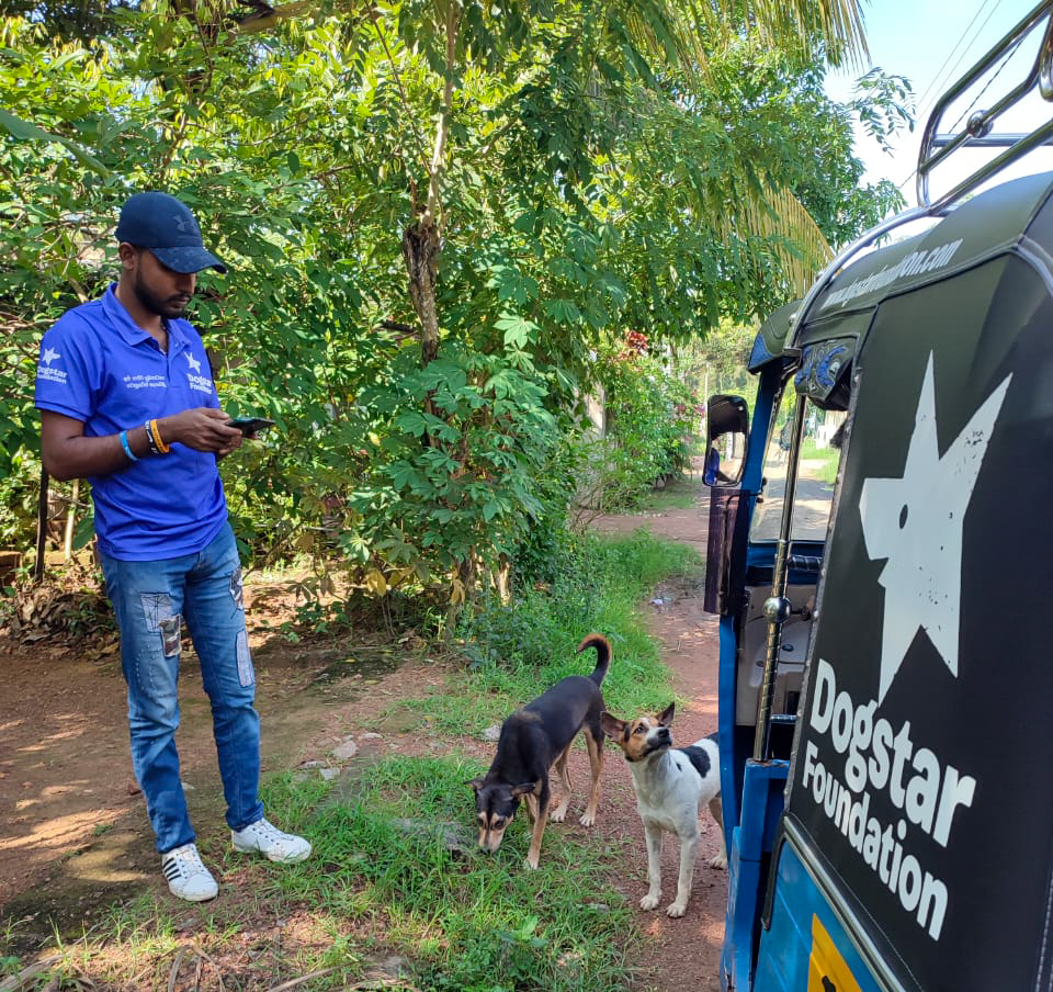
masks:
<path id="1" fill-rule="evenodd" d="M 353 796 L 274 777 L 268 809 L 310 838 L 309 860 L 279 867 L 239 858 L 225 838 L 205 844 L 219 899 L 189 906 L 147 894 L 115 908 L 101 932 L 56 940 L 37 983 L 16 988 L 56 974 L 68 984 L 49 988 L 272 989 L 305 976 L 297 990 L 374 988 L 386 967 L 420 992 L 624 989 L 636 935 L 611 886 L 616 848 L 550 831 L 542 867 L 526 871 L 517 818 L 497 855 L 483 854 L 464 786 L 482 770 L 457 755 L 393 757 Z M 15 958 L 0 962 L 19 971 Z"/>

